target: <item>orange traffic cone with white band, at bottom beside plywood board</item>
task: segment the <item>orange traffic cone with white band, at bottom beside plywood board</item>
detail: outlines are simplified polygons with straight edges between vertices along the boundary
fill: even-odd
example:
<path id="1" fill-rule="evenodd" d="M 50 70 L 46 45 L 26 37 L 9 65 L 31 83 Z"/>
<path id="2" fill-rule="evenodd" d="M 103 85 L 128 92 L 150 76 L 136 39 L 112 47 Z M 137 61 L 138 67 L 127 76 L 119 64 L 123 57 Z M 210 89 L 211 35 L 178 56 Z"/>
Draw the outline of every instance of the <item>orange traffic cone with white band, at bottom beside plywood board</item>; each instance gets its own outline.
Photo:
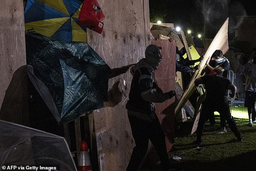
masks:
<path id="1" fill-rule="evenodd" d="M 80 146 L 78 171 L 92 171 L 90 156 L 88 153 L 88 146 L 85 141 L 82 141 Z"/>

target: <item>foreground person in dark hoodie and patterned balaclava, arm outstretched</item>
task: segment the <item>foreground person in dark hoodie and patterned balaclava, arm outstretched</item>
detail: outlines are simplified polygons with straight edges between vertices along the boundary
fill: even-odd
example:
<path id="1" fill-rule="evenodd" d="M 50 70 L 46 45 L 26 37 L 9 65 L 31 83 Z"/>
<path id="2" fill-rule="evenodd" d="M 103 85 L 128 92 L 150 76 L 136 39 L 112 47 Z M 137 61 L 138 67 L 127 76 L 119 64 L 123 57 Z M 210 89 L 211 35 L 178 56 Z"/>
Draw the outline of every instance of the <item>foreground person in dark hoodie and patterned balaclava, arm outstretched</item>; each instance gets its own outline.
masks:
<path id="1" fill-rule="evenodd" d="M 170 169 L 165 135 L 155 114 L 153 103 L 162 103 L 176 93 L 175 91 L 163 93 L 153 81 L 154 71 L 162 60 L 160 49 L 161 47 L 157 45 L 149 45 L 145 50 L 145 58 L 131 68 L 133 78 L 126 109 L 136 146 L 133 148 L 126 171 L 138 170 L 147 152 L 149 140 L 155 146 L 162 170 Z"/>

